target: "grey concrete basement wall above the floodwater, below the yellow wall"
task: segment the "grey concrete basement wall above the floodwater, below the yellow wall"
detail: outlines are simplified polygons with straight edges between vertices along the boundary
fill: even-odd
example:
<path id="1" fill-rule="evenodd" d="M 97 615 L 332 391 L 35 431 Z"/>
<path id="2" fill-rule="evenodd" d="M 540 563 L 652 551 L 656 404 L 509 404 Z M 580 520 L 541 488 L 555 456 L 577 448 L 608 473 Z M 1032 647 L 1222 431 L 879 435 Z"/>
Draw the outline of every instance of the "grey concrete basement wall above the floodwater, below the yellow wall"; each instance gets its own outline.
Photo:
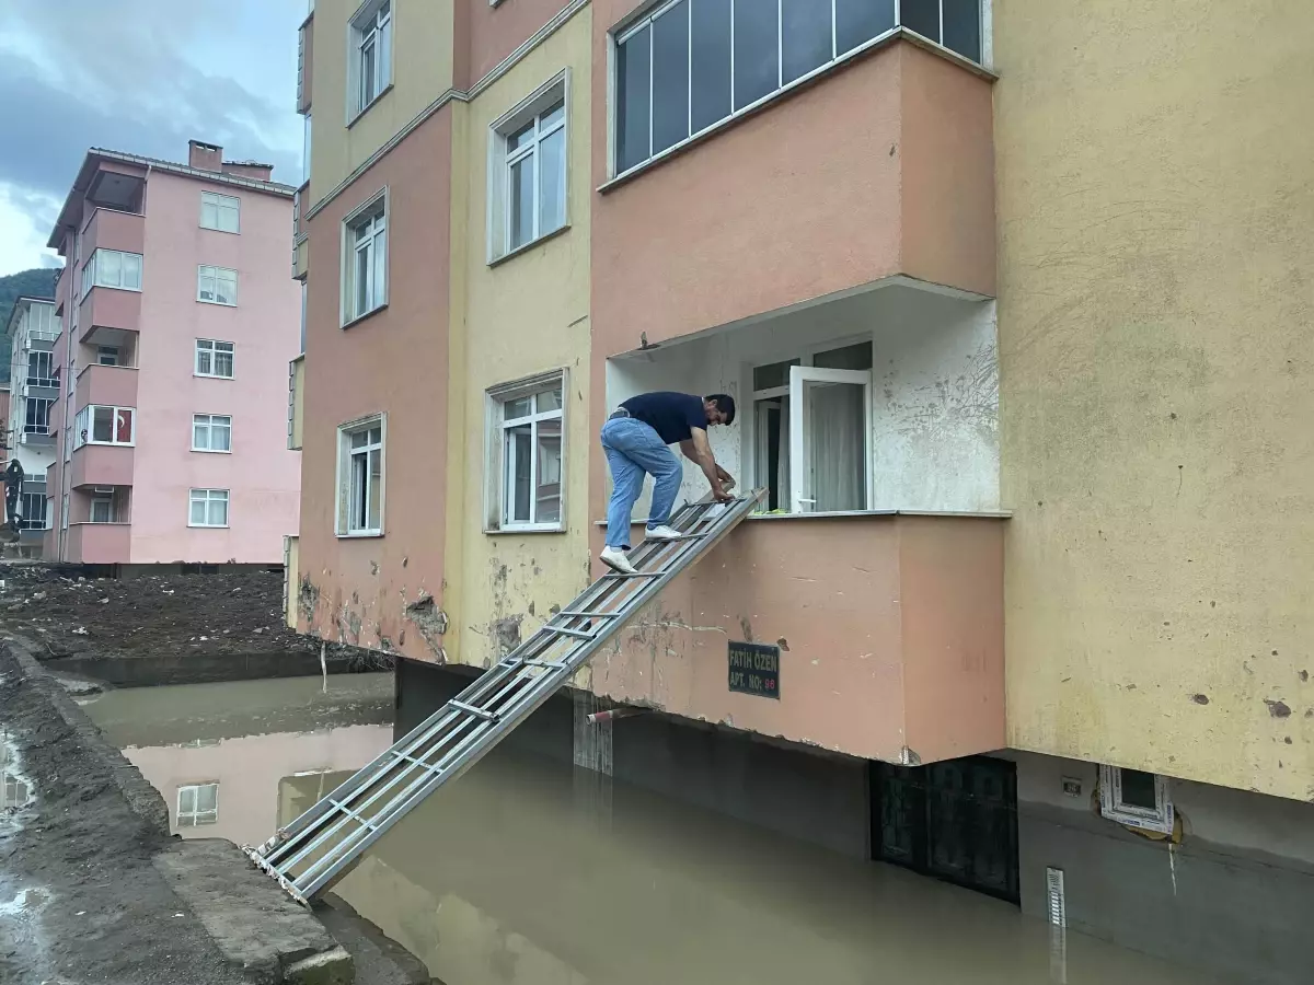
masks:
<path id="1" fill-rule="evenodd" d="M 1071 930 L 1238 981 L 1309 981 L 1314 806 L 1175 780 L 1183 841 L 1169 847 L 1100 817 L 1093 763 L 1001 755 L 1017 762 L 1025 913 L 1046 915 L 1055 867 Z"/>

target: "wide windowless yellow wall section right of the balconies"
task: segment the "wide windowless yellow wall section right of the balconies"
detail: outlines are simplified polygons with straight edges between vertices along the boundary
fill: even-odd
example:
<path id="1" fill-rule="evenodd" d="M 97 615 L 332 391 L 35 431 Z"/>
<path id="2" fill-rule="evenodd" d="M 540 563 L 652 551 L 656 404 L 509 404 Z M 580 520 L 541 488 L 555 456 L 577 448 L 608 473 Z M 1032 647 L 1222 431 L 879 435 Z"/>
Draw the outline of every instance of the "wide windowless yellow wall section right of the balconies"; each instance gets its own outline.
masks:
<path id="1" fill-rule="evenodd" d="M 995 4 L 1010 745 L 1314 797 L 1311 46 Z"/>

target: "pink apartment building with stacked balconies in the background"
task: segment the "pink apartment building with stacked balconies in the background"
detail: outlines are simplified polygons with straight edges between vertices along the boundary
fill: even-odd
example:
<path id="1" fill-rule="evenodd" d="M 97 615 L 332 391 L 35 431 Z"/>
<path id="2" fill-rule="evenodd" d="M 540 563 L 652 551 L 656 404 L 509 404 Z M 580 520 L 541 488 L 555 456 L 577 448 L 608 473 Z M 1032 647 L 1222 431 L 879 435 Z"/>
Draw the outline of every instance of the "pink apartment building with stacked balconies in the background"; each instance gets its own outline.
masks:
<path id="1" fill-rule="evenodd" d="M 46 557 L 273 565 L 297 527 L 286 366 L 293 189 L 192 141 L 92 148 L 49 246 L 66 259 Z M 62 381 L 62 382 L 59 382 Z"/>

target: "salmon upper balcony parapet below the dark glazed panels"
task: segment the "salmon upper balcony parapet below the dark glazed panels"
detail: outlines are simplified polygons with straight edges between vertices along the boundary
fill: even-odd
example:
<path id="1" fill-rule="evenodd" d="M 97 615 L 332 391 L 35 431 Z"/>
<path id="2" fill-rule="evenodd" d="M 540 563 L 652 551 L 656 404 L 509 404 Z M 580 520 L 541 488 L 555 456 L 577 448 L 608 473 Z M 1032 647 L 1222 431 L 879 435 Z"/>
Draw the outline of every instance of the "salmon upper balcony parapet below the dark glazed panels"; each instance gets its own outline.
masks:
<path id="1" fill-rule="evenodd" d="M 607 28 L 595 11 L 595 33 Z M 597 133 L 610 84 L 594 72 Z M 992 297 L 992 126 L 988 74 L 895 29 L 619 177 L 628 162 L 595 141 L 595 347 L 611 356 L 900 276 Z"/>

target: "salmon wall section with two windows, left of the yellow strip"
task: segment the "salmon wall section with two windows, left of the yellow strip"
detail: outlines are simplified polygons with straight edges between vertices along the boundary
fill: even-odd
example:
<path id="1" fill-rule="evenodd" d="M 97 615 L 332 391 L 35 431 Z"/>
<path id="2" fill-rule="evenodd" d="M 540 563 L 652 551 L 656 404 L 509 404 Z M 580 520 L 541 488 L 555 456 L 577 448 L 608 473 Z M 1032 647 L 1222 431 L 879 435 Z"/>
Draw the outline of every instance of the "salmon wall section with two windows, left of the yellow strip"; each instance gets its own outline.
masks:
<path id="1" fill-rule="evenodd" d="M 442 605 L 447 503 L 451 109 L 430 117 L 310 221 L 301 574 L 319 598 L 301 628 L 432 659 L 406 604 Z M 340 327 L 342 219 L 389 189 L 389 306 Z M 286 372 L 284 362 L 283 372 Z M 336 428 L 388 412 L 384 536 L 334 536 Z"/>

